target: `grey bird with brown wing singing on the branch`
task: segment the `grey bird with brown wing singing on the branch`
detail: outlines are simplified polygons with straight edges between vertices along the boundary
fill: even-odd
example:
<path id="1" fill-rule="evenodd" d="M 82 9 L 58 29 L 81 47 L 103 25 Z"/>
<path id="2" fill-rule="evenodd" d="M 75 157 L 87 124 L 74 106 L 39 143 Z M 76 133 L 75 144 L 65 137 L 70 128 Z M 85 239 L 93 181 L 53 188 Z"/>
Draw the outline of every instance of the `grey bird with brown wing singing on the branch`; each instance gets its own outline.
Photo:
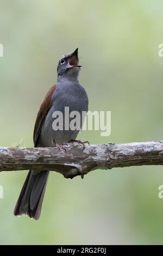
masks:
<path id="1" fill-rule="evenodd" d="M 88 111 L 89 99 L 78 80 L 81 69 L 78 48 L 60 58 L 57 83 L 48 90 L 37 113 L 33 133 L 34 147 L 56 147 L 75 141 L 79 129 L 54 130 L 52 116 L 55 111 L 60 111 L 65 120 L 65 107 L 69 107 L 70 112 L 78 111 L 80 114 Z M 82 124 L 83 121 L 81 129 Z M 49 170 L 29 170 L 15 206 L 15 216 L 28 215 L 39 220 L 48 176 Z"/>

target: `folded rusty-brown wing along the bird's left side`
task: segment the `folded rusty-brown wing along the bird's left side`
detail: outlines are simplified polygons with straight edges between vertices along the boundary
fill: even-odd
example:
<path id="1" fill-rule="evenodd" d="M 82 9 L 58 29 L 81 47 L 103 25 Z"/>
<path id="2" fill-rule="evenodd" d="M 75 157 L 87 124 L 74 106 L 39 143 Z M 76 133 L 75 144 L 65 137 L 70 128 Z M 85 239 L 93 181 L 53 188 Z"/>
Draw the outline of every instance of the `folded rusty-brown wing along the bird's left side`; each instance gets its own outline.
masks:
<path id="1" fill-rule="evenodd" d="M 43 120 L 45 119 L 49 108 L 52 104 L 52 94 L 56 88 L 56 85 L 52 86 L 51 89 L 48 90 L 45 99 L 43 100 L 39 112 L 36 117 L 35 121 L 35 127 L 34 127 L 34 133 L 33 133 L 33 141 L 34 141 L 34 147 L 37 147 L 37 141 L 40 135 L 41 127 L 43 124 Z"/>

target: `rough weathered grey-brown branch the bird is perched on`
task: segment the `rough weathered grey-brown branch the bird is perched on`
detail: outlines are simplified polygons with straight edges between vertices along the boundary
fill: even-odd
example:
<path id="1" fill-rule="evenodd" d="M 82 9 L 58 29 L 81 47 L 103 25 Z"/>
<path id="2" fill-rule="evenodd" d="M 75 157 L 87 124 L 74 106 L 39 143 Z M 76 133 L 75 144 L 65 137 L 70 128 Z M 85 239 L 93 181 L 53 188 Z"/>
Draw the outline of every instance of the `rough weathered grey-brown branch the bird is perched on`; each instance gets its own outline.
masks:
<path id="1" fill-rule="evenodd" d="M 163 143 L 83 145 L 68 143 L 64 148 L 0 148 L 0 171 L 54 170 L 73 178 L 95 169 L 162 165 Z"/>

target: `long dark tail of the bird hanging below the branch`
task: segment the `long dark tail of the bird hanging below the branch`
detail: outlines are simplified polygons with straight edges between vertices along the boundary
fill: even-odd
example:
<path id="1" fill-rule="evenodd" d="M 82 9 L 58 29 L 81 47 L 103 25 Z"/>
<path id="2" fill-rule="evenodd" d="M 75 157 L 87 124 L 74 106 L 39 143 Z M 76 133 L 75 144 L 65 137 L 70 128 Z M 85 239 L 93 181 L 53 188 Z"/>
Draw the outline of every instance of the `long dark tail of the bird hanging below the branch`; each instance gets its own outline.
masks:
<path id="1" fill-rule="evenodd" d="M 20 216 L 25 214 L 35 220 L 39 219 L 48 174 L 48 171 L 29 171 L 18 197 L 14 215 Z"/>

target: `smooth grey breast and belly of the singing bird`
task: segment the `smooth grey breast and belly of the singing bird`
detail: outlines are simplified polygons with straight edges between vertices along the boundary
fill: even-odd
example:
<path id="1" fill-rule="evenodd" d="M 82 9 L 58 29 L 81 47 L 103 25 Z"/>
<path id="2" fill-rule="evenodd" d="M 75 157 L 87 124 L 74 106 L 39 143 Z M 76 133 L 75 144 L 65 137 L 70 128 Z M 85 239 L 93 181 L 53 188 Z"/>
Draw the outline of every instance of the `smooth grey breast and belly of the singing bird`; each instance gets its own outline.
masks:
<path id="1" fill-rule="evenodd" d="M 87 112 L 87 108 L 88 97 L 82 85 L 79 83 L 57 84 L 57 88 L 52 95 L 52 106 L 43 121 L 39 146 L 54 147 L 55 143 L 62 144 L 75 139 L 82 127 L 82 117 Z M 67 113 L 69 116 L 67 116 Z M 76 118 L 76 113 L 79 113 L 80 117 Z M 77 124 L 76 121 L 72 121 L 74 118 L 76 118 L 77 123 L 79 119 L 80 122 Z M 62 123 L 59 124 L 58 121 Z"/>

